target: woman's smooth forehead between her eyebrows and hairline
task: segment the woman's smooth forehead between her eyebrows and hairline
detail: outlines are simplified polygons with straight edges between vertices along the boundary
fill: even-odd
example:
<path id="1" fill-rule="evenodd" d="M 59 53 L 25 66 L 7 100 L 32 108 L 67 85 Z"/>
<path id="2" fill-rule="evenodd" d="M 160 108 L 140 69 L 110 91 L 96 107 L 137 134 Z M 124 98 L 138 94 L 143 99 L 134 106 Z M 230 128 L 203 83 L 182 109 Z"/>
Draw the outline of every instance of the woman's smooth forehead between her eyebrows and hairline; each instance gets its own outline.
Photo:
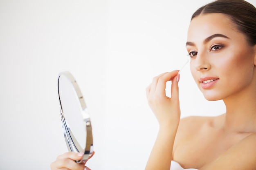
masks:
<path id="1" fill-rule="evenodd" d="M 203 40 L 220 33 L 228 37 L 238 33 L 229 16 L 222 13 L 201 14 L 190 22 L 188 41 Z"/>

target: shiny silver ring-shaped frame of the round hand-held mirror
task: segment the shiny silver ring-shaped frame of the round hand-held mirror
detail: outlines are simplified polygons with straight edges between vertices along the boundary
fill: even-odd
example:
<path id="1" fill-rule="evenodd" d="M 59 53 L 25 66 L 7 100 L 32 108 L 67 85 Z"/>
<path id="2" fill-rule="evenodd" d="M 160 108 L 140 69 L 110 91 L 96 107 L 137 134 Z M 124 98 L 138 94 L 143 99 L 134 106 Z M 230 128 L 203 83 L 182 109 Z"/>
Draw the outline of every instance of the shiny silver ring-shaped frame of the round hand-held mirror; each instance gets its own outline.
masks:
<path id="1" fill-rule="evenodd" d="M 60 98 L 60 91 L 59 91 L 59 79 L 61 76 L 65 76 L 69 82 L 72 84 L 74 93 L 77 95 L 77 98 L 79 99 L 79 103 L 81 106 L 81 116 L 83 119 L 83 123 L 85 125 L 85 131 L 86 131 L 86 144 L 85 148 L 80 146 L 76 138 L 74 137 L 70 127 L 67 126 L 66 119 L 65 119 L 65 113 L 63 113 L 63 107 L 61 105 L 61 98 Z M 74 79 L 73 75 L 68 72 L 61 72 L 58 75 L 58 97 L 59 97 L 59 103 L 61 107 L 61 121 L 62 121 L 62 128 L 63 128 L 63 134 L 65 138 L 65 142 L 67 144 L 67 149 L 69 152 L 83 152 L 83 158 L 81 160 L 77 160 L 76 163 L 85 163 L 89 159 L 89 157 L 92 155 L 93 152 L 93 140 L 92 140 L 92 124 L 90 121 L 90 115 L 88 113 L 88 109 L 85 105 L 85 100 L 83 98 L 83 95 L 80 91 L 80 88 L 78 84 L 76 83 L 76 80 Z"/>

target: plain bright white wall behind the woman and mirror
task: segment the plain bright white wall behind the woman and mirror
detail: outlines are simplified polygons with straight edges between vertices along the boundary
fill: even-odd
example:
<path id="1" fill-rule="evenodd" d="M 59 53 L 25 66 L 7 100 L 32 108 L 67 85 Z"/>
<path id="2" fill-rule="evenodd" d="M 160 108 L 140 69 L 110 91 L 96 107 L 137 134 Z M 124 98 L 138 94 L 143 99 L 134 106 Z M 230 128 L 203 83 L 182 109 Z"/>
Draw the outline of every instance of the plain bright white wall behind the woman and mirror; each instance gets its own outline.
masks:
<path id="1" fill-rule="evenodd" d="M 256 5 L 255 0 L 248 0 Z M 47 170 L 67 152 L 57 75 L 76 78 L 92 117 L 92 170 L 144 169 L 158 124 L 145 88 L 186 61 L 192 13 L 210 0 L 0 0 L 0 169 Z M 182 117 L 219 115 L 189 65 Z"/>

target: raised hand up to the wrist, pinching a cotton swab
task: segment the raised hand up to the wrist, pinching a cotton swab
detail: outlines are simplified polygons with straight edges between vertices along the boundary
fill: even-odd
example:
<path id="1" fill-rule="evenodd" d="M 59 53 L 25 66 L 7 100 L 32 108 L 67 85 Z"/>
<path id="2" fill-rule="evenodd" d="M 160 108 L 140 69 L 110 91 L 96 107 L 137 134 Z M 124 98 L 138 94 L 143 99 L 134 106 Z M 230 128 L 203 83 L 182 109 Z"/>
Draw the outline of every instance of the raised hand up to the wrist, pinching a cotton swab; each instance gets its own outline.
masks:
<path id="1" fill-rule="evenodd" d="M 180 121 L 178 70 L 160 74 L 153 78 L 146 89 L 148 104 L 161 125 L 177 125 Z M 166 82 L 172 81 L 171 97 L 166 96 Z"/>

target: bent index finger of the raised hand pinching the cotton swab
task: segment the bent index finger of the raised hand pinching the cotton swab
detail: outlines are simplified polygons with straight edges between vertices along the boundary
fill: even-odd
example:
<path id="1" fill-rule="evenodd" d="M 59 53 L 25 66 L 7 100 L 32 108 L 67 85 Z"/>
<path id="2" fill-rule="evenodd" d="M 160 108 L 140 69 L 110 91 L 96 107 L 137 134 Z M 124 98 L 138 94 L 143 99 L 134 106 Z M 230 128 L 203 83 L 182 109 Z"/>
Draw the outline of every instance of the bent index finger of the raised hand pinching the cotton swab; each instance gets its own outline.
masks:
<path id="1" fill-rule="evenodd" d="M 155 93 L 160 95 L 161 97 L 165 97 L 166 82 L 173 80 L 173 78 L 177 75 L 177 73 L 178 71 L 172 71 L 160 77 L 157 83 Z"/>

